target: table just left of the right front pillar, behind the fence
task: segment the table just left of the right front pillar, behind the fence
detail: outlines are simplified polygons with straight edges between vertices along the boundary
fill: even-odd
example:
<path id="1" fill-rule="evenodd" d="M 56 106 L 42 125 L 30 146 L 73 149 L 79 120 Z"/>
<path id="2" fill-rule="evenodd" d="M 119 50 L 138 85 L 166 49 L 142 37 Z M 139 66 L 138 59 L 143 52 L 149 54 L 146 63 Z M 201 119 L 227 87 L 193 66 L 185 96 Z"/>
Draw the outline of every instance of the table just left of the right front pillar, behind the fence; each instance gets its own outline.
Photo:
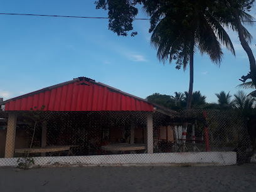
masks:
<path id="1" fill-rule="evenodd" d="M 120 143 L 120 144 L 109 144 L 107 146 L 102 146 L 102 150 L 105 151 L 130 151 L 133 154 L 136 154 L 137 150 L 145 150 L 146 153 L 147 144 L 129 144 L 129 143 Z"/>

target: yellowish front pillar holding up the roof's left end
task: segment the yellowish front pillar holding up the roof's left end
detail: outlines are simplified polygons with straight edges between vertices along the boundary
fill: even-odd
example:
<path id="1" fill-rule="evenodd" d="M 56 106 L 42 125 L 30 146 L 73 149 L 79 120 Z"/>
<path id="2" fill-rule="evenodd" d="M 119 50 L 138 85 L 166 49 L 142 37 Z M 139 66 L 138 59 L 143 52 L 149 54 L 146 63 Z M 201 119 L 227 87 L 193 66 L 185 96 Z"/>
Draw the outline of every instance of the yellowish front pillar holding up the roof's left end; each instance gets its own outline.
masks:
<path id="1" fill-rule="evenodd" d="M 8 117 L 5 158 L 11 158 L 14 155 L 15 136 L 16 136 L 17 114 L 10 112 Z"/>

